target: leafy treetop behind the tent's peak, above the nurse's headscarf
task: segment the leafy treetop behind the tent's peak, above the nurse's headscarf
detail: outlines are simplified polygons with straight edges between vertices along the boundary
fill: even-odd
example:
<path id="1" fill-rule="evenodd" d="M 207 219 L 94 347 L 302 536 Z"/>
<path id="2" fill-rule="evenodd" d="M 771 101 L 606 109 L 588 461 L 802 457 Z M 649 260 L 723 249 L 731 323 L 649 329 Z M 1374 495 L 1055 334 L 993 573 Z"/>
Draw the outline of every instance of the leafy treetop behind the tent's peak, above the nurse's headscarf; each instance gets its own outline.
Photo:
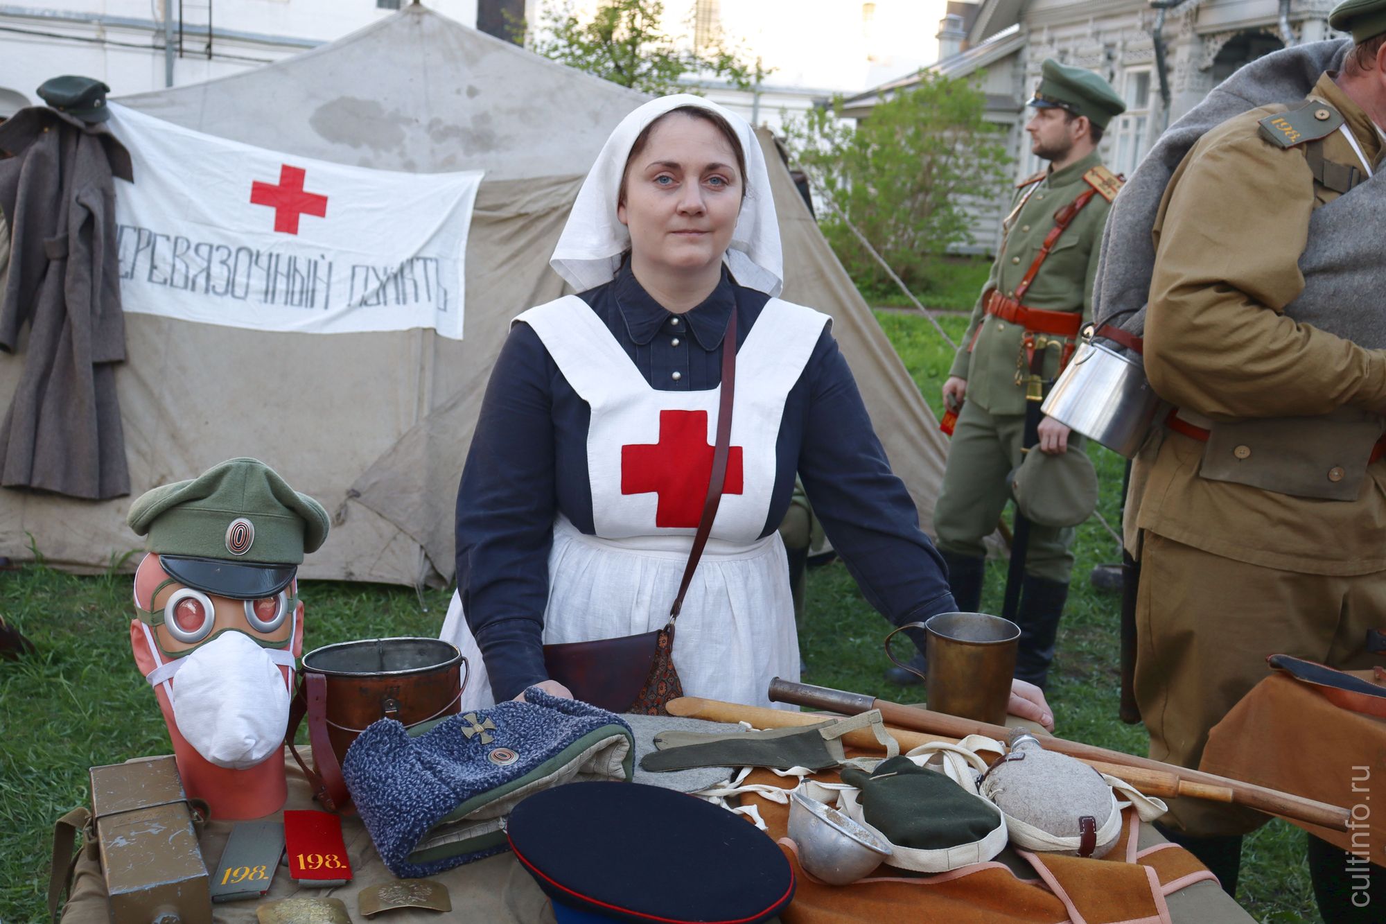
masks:
<path id="1" fill-rule="evenodd" d="M 547 58 L 643 93 L 696 92 L 679 83 L 685 74 L 750 87 L 755 65 L 723 36 L 686 47 L 664 31 L 663 21 L 663 0 L 600 0 L 590 17 L 578 15 L 572 0 L 563 0 L 545 7 L 527 44 Z"/>

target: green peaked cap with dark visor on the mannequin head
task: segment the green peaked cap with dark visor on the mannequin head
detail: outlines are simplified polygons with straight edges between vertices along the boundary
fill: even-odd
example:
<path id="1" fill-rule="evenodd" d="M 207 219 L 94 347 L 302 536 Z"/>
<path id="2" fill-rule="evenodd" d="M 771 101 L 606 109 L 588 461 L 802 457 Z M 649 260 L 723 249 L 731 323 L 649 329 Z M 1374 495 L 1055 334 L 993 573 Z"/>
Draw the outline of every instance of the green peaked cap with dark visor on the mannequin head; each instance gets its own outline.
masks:
<path id="1" fill-rule="evenodd" d="M 272 597 L 327 538 L 323 505 L 259 459 L 229 459 L 146 491 L 126 517 L 176 580 L 233 599 Z"/>

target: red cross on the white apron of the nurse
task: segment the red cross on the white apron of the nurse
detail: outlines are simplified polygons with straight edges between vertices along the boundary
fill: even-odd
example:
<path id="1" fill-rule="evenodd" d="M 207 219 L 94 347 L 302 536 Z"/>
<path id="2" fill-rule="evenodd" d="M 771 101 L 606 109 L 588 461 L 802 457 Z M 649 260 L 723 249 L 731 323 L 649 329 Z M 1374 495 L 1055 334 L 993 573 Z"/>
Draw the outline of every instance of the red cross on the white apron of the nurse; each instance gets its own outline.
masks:
<path id="1" fill-rule="evenodd" d="M 660 441 L 621 447 L 621 494 L 658 494 L 654 524 L 697 529 L 712 479 L 707 411 L 660 411 Z M 742 447 L 726 455 L 722 494 L 742 493 Z"/>

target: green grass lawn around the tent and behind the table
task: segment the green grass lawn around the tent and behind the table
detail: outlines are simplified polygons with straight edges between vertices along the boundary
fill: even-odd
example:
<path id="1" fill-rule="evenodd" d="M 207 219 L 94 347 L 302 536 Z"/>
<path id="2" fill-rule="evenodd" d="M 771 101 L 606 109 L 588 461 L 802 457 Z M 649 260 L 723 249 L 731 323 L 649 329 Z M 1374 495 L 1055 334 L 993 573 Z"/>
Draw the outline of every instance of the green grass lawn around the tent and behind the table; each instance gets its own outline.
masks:
<path id="1" fill-rule="evenodd" d="M 980 283 L 979 283 L 980 287 Z M 974 297 L 974 296 L 973 296 Z M 970 307 L 970 301 L 967 305 Z M 923 318 L 880 314 L 924 397 L 938 408 L 951 351 Z M 944 318 L 958 339 L 963 318 Z M 1100 511 L 1119 522 L 1121 459 L 1091 447 L 1102 480 Z M 42 552 L 42 538 L 37 540 Z M 1078 530 L 1078 566 L 1059 635 L 1049 701 L 1058 733 L 1143 753 L 1139 726 L 1117 720 L 1119 598 L 1087 581 L 1091 567 L 1120 558 L 1096 520 Z M 1003 563 L 992 562 L 983 608 L 999 612 Z M 378 635 L 437 635 L 444 591 L 305 581 L 306 648 Z M 814 569 L 800 627 L 807 680 L 918 699 L 883 681 L 884 620 L 840 563 Z M 130 576 L 75 577 L 42 565 L 0 572 L 0 615 L 39 647 L 22 662 L 0 660 L 0 921 L 44 917 L 53 823 L 89 801 L 87 767 L 168 753 L 154 694 L 130 656 Z M 1318 921 L 1303 862 L 1304 837 L 1274 821 L 1247 842 L 1239 900 L 1263 921 Z"/>

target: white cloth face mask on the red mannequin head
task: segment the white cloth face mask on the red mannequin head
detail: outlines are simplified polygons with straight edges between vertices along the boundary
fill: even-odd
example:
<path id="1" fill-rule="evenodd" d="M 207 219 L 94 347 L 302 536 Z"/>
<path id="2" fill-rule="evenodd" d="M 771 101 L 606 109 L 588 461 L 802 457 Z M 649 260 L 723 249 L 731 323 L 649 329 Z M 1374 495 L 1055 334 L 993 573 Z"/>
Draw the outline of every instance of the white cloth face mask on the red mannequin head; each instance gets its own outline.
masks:
<path id="1" fill-rule="evenodd" d="M 244 770 L 284 746 L 288 685 L 281 663 L 292 670 L 294 655 L 226 631 L 146 680 L 157 685 L 176 674 L 169 699 L 179 733 L 208 763 Z"/>

